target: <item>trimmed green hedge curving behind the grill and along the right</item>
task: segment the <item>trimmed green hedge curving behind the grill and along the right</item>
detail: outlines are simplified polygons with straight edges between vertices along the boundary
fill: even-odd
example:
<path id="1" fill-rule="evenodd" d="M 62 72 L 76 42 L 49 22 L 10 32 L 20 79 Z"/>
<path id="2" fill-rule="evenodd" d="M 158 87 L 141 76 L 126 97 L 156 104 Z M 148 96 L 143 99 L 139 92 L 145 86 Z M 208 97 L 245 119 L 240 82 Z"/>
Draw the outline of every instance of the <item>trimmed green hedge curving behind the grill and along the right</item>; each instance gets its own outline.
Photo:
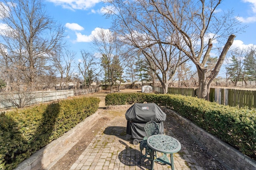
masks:
<path id="1" fill-rule="evenodd" d="M 148 102 L 172 109 L 256 160 L 255 109 L 239 109 L 191 96 L 173 94 L 108 94 L 105 101 L 106 106 Z M 113 103 L 116 101 L 117 103 Z"/>

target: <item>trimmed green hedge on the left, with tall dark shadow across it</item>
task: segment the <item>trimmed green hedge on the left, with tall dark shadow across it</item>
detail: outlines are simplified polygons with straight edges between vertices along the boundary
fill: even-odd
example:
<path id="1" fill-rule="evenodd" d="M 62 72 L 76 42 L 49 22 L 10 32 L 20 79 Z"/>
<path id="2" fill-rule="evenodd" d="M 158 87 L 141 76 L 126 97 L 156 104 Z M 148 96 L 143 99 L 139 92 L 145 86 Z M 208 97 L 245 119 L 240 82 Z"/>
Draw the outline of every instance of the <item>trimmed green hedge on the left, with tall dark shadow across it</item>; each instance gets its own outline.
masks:
<path id="1" fill-rule="evenodd" d="M 11 170 L 98 109 L 98 98 L 74 98 L 0 114 L 0 169 Z"/>

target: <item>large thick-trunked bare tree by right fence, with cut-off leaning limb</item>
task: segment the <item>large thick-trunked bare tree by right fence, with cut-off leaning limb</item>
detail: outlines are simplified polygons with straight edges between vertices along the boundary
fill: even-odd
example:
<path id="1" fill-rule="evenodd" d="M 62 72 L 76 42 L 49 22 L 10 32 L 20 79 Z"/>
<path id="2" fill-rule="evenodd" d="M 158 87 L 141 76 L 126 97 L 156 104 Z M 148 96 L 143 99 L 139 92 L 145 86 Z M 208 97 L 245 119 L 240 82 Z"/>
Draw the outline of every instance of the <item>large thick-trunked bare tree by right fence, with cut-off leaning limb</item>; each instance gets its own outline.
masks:
<path id="1" fill-rule="evenodd" d="M 210 84 L 220 71 L 234 34 L 243 30 L 232 11 L 217 12 L 222 1 L 106 0 L 106 3 L 112 6 L 108 14 L 114 17 L 114 29 L 128 38 L 130 45 L 145 49 L 168 44 L 189 57 L 198 71 L 198 97 L 208 99 Z M 212 70 L 207 70 L 206 62 L 212 53 L 218 55 L 218 61 Z"/>

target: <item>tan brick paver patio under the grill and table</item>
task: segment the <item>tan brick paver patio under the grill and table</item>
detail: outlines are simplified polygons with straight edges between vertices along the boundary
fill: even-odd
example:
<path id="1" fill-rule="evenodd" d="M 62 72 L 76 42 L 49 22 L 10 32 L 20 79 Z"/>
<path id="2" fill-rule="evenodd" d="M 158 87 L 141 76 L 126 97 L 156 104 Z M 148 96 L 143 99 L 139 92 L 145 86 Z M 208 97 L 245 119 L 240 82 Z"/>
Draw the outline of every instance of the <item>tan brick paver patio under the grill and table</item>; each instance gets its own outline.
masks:
<path id="1" fill-rule="evenodd" d="M 165 132 L 175 138 L 171 131 Z M 70 170 L 146 170 L 150 161 L 142 158 L 139 164 L 140 148 L 133 145 L 126 135 L 126 119 L 115 117 L 107 127 L 102 127 L 90 145 L 82 152 Z M 158 153 L 159 154 L 159 153 Z M 168 157 L 170 158 L 169 154 Z M 175 170 L 202 170 L 187 150 L 174 154 Z M 154 170 L 171 170 L 171 166 L 155 163 Z"/>

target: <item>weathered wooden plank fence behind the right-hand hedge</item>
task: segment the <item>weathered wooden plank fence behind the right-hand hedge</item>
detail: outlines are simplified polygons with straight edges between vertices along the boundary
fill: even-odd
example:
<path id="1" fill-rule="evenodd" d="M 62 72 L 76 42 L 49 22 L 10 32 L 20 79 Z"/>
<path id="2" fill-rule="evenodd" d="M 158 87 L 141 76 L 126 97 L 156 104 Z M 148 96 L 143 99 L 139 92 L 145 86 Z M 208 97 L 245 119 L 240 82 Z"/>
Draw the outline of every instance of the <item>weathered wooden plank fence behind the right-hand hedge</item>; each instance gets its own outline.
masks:
<path id="1" fill-rule="evenodd" d="M 153 87 L 155 92 L 163 93 L 162 87 Z M 197 88 L 168 88 L 168 94 L 197 96 Z M 210 88 L 210 102 L 218 104 L 256 108 L 255 90 L 236 90 L 226 88 Z"/>

